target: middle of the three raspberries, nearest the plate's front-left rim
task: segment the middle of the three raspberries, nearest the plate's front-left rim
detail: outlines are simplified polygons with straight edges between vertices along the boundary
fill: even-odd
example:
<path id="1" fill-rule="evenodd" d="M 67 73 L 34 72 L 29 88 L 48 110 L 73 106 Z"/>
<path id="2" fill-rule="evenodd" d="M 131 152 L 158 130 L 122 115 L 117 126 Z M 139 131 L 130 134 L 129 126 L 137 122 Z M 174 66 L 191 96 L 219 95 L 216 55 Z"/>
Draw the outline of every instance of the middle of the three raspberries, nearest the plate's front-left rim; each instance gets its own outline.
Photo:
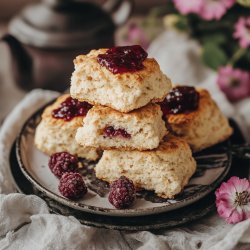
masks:
<path id="1" fill-rule="evenodd" d="M 76 200 L 83 197 L 87 193 L 87 187 L 79 173 L 65 173 L 60 179 L 60 193 L 71 200 Z"/>

